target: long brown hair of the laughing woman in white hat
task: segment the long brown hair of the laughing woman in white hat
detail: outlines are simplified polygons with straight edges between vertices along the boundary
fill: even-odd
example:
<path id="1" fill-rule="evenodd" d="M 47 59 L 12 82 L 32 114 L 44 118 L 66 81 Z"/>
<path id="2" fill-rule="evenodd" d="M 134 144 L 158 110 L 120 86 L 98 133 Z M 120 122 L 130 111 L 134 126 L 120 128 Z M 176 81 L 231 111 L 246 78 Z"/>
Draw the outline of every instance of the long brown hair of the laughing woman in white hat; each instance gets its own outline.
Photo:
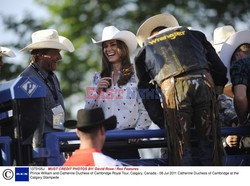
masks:
<path id="1" fill-rule="evenodd" d="M 122 51 L 121 56 L 121 76 L 118 80 L 118 86 L 125 85 L 129 82 L 131 76 L 134 73 L 133 65 L 130 62 L 129 58 L 129 50 L 127 45 L 120 40 L 116 40 L 117 47 Z M 112 73 L 112 64 L 109 62 L 105 54 L 102 50 L 102 71 L 101 71 L 101 77 L 111 77 Z"/>

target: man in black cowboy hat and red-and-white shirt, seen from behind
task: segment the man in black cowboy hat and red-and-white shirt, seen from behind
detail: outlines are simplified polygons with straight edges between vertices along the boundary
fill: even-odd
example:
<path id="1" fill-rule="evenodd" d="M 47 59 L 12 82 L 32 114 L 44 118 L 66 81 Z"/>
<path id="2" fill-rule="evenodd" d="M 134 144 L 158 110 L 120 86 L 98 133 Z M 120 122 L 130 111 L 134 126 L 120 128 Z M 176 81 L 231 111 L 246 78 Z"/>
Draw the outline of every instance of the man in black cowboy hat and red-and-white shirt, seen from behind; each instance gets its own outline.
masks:
<path id="1" fill-rule="evenodd" d="M 75 129 L 80 138 L 80 148 L 64 163 L 64 166 L 122 166 L 101 150 L 106 139 L 106 130 L 116 127 L 116 116 L 104 118 L 102 108 L 80 109 L 77 121 L 69 120 L 64 123 L 66 128 Z"/>

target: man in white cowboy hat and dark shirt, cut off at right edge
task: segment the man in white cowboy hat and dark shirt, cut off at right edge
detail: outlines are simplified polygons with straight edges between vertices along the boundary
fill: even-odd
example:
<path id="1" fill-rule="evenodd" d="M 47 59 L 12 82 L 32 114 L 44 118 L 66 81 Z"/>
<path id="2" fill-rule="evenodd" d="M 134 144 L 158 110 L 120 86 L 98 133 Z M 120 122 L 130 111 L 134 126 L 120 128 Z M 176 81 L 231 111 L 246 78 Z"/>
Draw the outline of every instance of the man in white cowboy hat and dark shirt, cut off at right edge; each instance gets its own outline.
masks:
<path id="1" fill-rule="evenodd" d="M 239 31 L 233 34 L 222 46 L 221 60 L 228 68 L 227 76 L 232 84 L 227 92 L 232 92 L 235 111 L 238 117 L 238 125 L 249 124 L 250 113 L 250 30 Z M 227 146 L 250 147 L 249 137 L 238 137 L 231 135 L 227 137 Z"/>

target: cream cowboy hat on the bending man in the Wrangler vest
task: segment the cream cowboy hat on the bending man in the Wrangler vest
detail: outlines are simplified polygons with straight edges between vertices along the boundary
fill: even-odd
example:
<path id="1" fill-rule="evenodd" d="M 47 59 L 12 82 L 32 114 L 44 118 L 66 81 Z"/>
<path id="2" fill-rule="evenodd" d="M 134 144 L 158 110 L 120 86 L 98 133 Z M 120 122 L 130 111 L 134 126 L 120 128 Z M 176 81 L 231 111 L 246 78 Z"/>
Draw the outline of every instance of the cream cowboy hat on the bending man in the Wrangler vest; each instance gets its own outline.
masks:
<path id="1" fill-rule="evenodd" d="M 152 30 L 160 26 L 176 27 L 179 26 L 179 23 L 176 18 L 169 13 L 158 14 L 150 17 L 144 21 L 137 30 L 136 37 L 140 47 L 143 46 L 143 42 L 150 36 Z"/>

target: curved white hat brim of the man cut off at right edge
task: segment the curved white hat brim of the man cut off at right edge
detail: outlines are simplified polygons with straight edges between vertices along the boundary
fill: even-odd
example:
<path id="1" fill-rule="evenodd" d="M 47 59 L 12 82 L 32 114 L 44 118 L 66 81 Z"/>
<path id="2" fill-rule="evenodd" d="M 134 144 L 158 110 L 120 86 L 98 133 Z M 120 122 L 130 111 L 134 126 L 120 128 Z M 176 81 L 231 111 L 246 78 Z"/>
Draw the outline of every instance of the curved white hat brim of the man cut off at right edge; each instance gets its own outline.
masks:
<path id="1" fill-rule="evenodd" d="M 221 48 L 220 58 L 224 65 L 227 67 L 227 78 L 231 82 L 230 78 L 230 62 L 234 51 L 242 44 L 250 44 L 250 30 L 239 31 L 233 34 Z"/>

